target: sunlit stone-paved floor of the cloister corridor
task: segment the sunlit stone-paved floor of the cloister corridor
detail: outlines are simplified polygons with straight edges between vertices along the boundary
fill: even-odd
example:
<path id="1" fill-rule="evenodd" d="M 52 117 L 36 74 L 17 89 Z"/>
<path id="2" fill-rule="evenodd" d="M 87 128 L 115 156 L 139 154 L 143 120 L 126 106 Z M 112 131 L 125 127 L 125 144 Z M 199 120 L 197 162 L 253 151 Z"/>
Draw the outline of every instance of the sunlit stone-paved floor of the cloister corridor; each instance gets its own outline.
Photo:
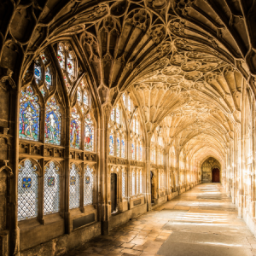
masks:
<path id="1" fill-rule="evenodd" d="M 222 186 L 205 183 L 67 255 L 256 255 L 256 239 Z"/>

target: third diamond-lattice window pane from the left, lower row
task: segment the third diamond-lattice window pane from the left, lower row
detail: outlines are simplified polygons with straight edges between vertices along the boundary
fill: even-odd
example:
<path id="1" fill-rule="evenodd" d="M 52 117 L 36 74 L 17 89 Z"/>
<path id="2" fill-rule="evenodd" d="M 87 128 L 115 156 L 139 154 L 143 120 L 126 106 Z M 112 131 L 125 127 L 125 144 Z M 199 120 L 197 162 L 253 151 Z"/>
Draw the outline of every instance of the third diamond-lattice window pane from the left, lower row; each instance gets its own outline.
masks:
<path id="1" fill-rule="evenodd" d="M 80 201 L 79 169 L 73 164 L 69 177 L 69 209 L 78 208 Z"/>

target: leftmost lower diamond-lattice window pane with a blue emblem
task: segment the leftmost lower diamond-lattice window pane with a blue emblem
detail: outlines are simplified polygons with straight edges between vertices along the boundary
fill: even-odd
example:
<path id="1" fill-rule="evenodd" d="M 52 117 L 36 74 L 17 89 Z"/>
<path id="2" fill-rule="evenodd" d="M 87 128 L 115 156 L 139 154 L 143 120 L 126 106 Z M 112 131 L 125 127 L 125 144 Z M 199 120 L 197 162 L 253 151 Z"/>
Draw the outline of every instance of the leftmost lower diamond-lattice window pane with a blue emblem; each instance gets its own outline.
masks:
<path id="1" fill-rule="evenodd" d="M 18 220 L 38 216 L 38 174 L 37 166 L 31 160 L 19 165 L 18 174 Z"/>

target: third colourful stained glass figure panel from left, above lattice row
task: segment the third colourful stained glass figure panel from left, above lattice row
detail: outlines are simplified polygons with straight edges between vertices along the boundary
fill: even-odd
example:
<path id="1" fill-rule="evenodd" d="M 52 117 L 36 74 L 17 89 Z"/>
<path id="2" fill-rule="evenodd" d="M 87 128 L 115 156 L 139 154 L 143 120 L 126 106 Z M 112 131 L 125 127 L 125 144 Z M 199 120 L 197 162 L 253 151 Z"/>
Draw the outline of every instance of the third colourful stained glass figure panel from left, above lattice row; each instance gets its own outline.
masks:
<path id="1" fill-rule="evenodd" d="M 81 143 L 81 120 L 76 108 L 72 108 L 70 122 L 70 147 L 80 148 Z"/>

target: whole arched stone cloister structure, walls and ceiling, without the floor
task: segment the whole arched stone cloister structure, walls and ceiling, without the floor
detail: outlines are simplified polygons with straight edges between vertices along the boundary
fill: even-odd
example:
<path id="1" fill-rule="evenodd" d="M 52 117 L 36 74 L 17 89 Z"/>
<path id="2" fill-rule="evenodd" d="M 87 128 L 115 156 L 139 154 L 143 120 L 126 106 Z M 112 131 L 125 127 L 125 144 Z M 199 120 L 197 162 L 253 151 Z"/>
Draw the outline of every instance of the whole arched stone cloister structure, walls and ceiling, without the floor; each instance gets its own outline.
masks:
<path id="1" fill-rule="evenodd" d="M 0 1 L 1 255 L 66 253 L 199 183 L 255 234 L 255 12 Z"/>

